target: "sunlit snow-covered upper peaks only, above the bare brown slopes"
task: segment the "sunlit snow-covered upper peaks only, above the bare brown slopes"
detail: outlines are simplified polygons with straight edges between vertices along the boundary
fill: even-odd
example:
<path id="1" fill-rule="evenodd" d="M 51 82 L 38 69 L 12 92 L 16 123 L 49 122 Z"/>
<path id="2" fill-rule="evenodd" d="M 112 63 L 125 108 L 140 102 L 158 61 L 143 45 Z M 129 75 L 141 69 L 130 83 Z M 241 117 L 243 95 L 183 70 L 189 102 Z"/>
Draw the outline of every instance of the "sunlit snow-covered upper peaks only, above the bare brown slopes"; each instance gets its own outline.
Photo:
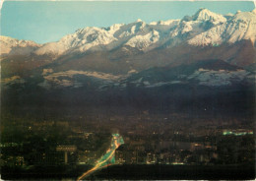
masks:
<path id="1" fill-rule="evenodd" d="M 51 54 L 54 57 L 87 51 L 109 51 L 117 47 L 133 47 L 147 52 L 163 45 L 187 43 L 194 46 L 218 46 L 240 40 L 256 39 L 256 10 L 223 16 L 200 9 L 192 17 L 146 24 L 142 20 L 109 28 L 85 28 L 65 35 L 57 42 L 36 44 L 1 36 L 1 55 Z M 19 50 L 22 48 L 22 50 Z M 26 48 L 26 50 L 25 50 Z"/>

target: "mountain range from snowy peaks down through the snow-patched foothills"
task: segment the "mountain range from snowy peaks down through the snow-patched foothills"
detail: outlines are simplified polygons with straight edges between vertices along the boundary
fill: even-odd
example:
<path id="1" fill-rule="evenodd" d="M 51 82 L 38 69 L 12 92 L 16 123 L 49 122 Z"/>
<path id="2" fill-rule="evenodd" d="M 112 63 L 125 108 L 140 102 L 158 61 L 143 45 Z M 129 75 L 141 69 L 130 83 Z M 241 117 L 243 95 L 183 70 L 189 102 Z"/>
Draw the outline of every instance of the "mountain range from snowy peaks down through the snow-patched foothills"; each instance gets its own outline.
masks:
<path id="1" fill-rule="evenodd" d="M 36 85 L 47 90 L 94 85 L 99 91 L 188 83 L 230 86 L 253 82 L 255 40 L 256 9 L 225 16 L 200 9 L 191 17 L 150 24 L 138 19 L 77 30 L 44 44 L 1 36 L 1 82 L 25 84 L 36 77 L 41 79 Z M 193 68 L 210 60 L 219 62 L 217 68 Z M 179 66 L 185 69 L 169 73 Z M 154 67 L 167 71 L 149 71 Z"/>

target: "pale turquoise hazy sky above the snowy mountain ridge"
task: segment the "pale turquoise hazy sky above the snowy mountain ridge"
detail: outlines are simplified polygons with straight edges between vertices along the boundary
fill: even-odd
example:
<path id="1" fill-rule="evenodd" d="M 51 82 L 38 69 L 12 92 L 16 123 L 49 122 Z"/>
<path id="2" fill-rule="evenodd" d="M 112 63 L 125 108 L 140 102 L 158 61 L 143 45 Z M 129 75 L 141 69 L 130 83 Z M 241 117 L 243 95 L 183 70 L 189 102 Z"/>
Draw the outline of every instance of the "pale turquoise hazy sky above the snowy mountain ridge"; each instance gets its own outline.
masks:
<path id="1" fill-rule="evenodd" d="M 6 1 L 1 10 L 1 34 L 38 43 L 56 41 L 85 27 L 109 27 L 142 19 L 146 23 L 181 19 L 199 8 L 220 14 L 251 11 L 253 2 L 59 2 Z"/>

